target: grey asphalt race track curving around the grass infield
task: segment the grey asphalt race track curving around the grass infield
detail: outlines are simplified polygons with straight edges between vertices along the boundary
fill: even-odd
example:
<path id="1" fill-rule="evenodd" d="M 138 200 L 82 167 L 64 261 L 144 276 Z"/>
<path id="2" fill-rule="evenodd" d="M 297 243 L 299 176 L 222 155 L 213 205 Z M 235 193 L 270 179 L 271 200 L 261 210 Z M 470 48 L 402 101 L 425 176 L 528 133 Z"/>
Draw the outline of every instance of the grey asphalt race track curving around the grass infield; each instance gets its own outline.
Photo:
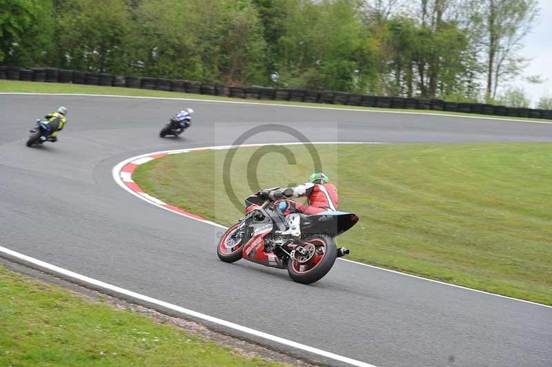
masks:
<path id="1" fill-rule="evenodd" d="M 69 110 L 59 142 L 26 148 L 34 120 L 59 105 Z M 192 128 L 160 139 L 168 117 L 185 106 L 196 111 Z M 552 308 L 346 261 L 312 286 L 295 284 L 285 270 L 225 264 L 215 252 L 219 228 L 147 204 L 112 179 L 128 157 L 230 144 L 259 123 L 293 126 L 311 141 L 552 141 L 546 123 L 0 95 L 0 246 L 375 366 L 552 366 Z M 294 139 L 261 134 L 248 142 L 274 141 Z"/>

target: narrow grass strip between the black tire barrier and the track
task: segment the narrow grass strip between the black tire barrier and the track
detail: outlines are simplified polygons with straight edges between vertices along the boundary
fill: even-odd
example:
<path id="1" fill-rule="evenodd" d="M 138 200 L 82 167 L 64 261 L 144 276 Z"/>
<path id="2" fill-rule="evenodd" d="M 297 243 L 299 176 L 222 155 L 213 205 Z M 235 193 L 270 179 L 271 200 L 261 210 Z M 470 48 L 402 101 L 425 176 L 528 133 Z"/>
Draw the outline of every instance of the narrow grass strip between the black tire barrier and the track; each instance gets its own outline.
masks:
<path id="1" fill-rule="evenodd" d="M 432 115 L 455 115 L 466 117 L 486 117 L 492 119 L 505 119 L 505 120 L 522 120 L 522 121 L 540 121 L 546 123 L 552 123 L 546 119 L 531 119 L 525 117 L 506 117 L 506 116 L 489 116 L 489 115 L 477 115 L 473 113 L 462 112 L 443 112 L 434 110 L 404 110 L 397 108 L 370 108 L 363 106 L 342 106 L 335 104 L 325 103 L 303 103 L 303 102 L 291 102 L 291 101 L 273 101 L 273 100 L 255 100 L 255 99 L 239 99 L 218 97 L 210 95 L 195 95 L 191 93 L 181 92 L 166 92 L 163 90 L 148 90 L 148 89 L 135 89 L 135 88 L 121 88 L 121 87 L 104 87 L 104 86 L 85 86 L 81 84 L 70 83 L 39 83 L 35 81 L 12 81 L 12 80 L 0 80 L 0 92 L 20 92 L 20 93 L 70 93 L 70 94 L 92 94 L 92 95 L 120 95 L 120 96 L 137 96 L 137 97 L 163 97 L 163 98 L 183 98 L 183 99 L 210 99 L 215 101 L 233 101 L 233 102 L 248 102 L 248 103 L 265 103 L 265 104 L 283 104 L 289 106 L 311 106 L 317 108 L 341 108 L 344 110 L 368 110 L 375 112 L 417 112 L 428 113 Z"/>

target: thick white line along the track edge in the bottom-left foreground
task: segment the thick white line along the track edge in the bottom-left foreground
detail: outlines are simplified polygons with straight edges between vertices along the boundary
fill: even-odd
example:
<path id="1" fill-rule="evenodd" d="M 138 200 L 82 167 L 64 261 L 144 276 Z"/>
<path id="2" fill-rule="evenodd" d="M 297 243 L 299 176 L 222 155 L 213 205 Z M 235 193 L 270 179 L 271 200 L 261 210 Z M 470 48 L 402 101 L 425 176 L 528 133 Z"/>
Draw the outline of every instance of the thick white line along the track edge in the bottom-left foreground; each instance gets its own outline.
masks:
<path id="1" fill-rule="evenodd" d="M 205 315 L 203 313 L 198 313 L 193 310 L 188 310 L 188 308 L 180 307 L 174 304 L 169 304 L 168 302 L 161 301 L 159 299 L 155 299 L 152 297 L 148 297 L 146 295 L 141 295 L 137 292 L 132 292 L 132 290 L 127 290 L 124 288 L 120 288 L 117 286 L 113 286 L 112 284 L 104 283 L 103 281 L 99 281 L 97 279 L 93 279 L 90 277 L 86 277 L 85 275 L 78 274 L 77 272 L 72 272 L 70 270 L 60 268 L 59 266 L 55 266 L 52 264 L 48 264 L 45 261 L 41 261 L 39 259 L 34 259 L 34 257 L 30 257 L 27 255 L 23 255 L 19 252 L 15 252 L 13 250 L 10 250 L 9 248 L 5 248 L 0 246 L 0 252 L 5 253 L 6 255 L 9 255 L 10 257 L 14 257 L 16 259 L 25 261 L 30 264 L 34 264 L 36 266 L 39 266 L 40 268 L 44 268 L 47 270 L 50 270 L 51 272 L 55 272 L 56 274 L 61 274 L 64 277 L 70 277 L 72 279 L 77 279 L 78 281 L 81 281 L 86 284 L 91 284 L 92 286 L 95 286 L 97 288 L 101 288 L 103 290 L 108 290 L 110 292 L 115 292 L 119 295 L 124 295 L 127 297 L 131 297 L 132 299 L 139 299 L 140 301 L 147 302 L 148 304 L 155 304 L 157 306 L 161 306 L 163 308 L 168 308 L 169 310 L 176 311 L 177 313 L 181 313 L 183 315 L 188 315 L 190 317 L 195 317 L 197 319 L 202 319 L 208 322 L 212 322 L 213 324 L 221 325 L 226 328 L 231 328 L 234 330 L 238 330 L 242 333 L 246 333 L 248 335 L 253 335 L 255 337 L 260 337 L 266 340 L 274 341 L 278 344 L 282 344 L 284 346 L 290 346 L 292 348 L 296 348 L 299 350 L 304 350 L 308 353 L 313 353 L 315 355 L 321 355 L 322 357 L 334 359 L 335 361 L 344 362 L 346 364 L 351 364 L 353 366 L 360 366 L 360 367 L 375 367 L 372 364 L 367 364 L 362 361 L 357 361 L 356 359 L 351 359 L 348 357 L 343 357 L 342 355 L 335 355 L 330 352 L 326 352 L 326 350 L 321 350 L 317 348 L 313 348 L 311 346 L 306 346 L 304 344 L 297 343 L 295 341 L 291 341 L 288 339 L 284 339 L 281 337 L 277 337 L 275 335 L 270 335 L 267 333 L 263 333 L 262 331 L 255 330 L 252 328 L 247 328 L 246 326 L 234 324 L 233 322 L 226 321 L 223 319 L 218 319 L 217 317 Z"/>

